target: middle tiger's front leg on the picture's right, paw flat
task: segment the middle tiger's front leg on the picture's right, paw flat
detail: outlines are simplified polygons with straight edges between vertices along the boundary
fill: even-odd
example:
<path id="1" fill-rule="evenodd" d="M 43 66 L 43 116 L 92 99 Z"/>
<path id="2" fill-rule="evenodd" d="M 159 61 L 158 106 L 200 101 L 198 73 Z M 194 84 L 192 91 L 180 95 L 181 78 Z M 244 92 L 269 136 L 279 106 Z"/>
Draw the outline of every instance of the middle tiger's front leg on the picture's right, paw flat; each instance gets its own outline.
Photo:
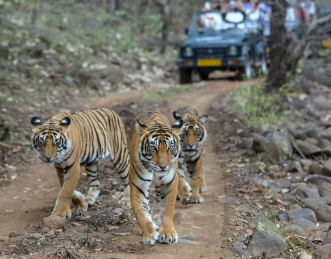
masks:
<path id="1" fill-rule="evenodd" d="M 178 233 L 174 227 L 174 210 L 176 194 L 178 188 L 178 174 L 175 173 L 174 179 L 168 184 L 161 184 L 161 224 L 159 229 L 158 241 L 160 243 L 177 243 Z"/>

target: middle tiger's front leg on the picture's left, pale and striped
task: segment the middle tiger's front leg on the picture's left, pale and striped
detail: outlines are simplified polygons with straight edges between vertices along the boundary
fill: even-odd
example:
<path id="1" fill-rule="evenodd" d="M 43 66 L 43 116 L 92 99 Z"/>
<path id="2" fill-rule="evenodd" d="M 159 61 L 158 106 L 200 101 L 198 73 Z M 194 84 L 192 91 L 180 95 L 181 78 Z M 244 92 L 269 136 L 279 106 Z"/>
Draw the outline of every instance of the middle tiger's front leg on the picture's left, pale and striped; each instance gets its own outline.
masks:
<path id="1" fill-rule="evenodd" d="M 146 244 L 154 245 L 158 237 L 158 226 L 153 222 L 150 215 L 148 187 L 149 184 L 139 184 L 137 186 L 132 182 L 135 172 L 129 169 L 129 183 L 130 183 L 130 201 L 133 214 L 137 220 L 142 233 L 142 241 Z M 133 176 L 132 176 L 133 175 Z M 136 180 L 136 182 L 139 182 Z"/>

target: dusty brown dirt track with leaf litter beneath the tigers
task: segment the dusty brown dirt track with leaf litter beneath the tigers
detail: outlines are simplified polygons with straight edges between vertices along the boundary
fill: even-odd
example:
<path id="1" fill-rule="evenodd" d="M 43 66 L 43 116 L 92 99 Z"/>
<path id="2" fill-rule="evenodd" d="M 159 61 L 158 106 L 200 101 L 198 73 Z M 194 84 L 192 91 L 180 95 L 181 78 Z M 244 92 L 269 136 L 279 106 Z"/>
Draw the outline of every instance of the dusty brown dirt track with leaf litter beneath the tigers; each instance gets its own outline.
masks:
<path id="1" fill-rule="evenodd" d="M 228 223 L 233 211 L 224 202 L 224 185 L 231 181 L 231 176 L 226 176 L 224 171 L 226 162 L 236 154 L 231 154 L 231 149 L 214 136 L 235 134 L 231 124 L 233 118 L 220 110 L 225 93 L 241 83 L 229 80 L 200 83 L 192 86 L 193 91 L 148 104 L 140 102 L 142 91 L 116 93 L 81 102 L 84 107 L 112 107 L 121 115 L 126 128 L 135 114 L 146 107 L 159 109 L 170 118 L 172 111 L 183 105 L 194 106 L 200 114 L 210 115 L 204 160 L 205 201 L 188 205 L 177 201 L 174 221 L 181 237 L 178 244 L 156 244 L 150 248 L 140 243 L 141 236 L 131 210 L 116 205 L 121 182 L 107 161 L 100 166 L 103 190 L 99 201 L 85 214 L 73 213 L 63 232 L 50 231 L 43 224 L 43 217 L 52 211 L 59 184 L 54 169 L 32 157 L 33 163 L 19 174 L 18 179 L 0 190 L 0 255 L 26 255 L 26 258 L 235 257 L 226 249 L 229 247 L 227 238 L 233 231 Z M 84 192 L 86 184 L 86 176 L 82 175 L 78 189 Z M 19 236 L 8 238 L 12 231 Z"/>

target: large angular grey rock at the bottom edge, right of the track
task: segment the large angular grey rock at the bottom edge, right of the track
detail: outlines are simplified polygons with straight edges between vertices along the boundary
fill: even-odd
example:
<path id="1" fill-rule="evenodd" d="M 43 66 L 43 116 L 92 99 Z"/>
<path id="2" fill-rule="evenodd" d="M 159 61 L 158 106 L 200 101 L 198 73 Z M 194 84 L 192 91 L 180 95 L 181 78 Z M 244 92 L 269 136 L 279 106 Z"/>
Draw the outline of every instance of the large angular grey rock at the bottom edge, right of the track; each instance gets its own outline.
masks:
<path id="1" fill-rule="evenodd" d="M 279 238 L 263 231 L 256 231 L 248 244 L 247 251 L 252 255 L 264 253 L 268 257 L 272 257 L 280 255 L 286 247 L 287 244 Z"/>

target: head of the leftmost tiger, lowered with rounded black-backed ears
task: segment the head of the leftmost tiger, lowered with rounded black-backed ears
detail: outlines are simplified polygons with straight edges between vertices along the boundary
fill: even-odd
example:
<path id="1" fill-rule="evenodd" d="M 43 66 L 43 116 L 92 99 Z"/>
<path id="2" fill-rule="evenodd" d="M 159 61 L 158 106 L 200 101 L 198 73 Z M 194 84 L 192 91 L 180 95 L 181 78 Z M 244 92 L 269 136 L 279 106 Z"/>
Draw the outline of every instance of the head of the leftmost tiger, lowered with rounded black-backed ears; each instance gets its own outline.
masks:
<path id="1" fill-rule="evenodd" d="M 31 119 L 32 147 L 42 161 L 60 161 L 70 150 L 71 143 L 68 138 L 70 121 L 69 117 L 64 117 L 59 121 L 50 119 L 43 124 L 39 117 Z"/>

